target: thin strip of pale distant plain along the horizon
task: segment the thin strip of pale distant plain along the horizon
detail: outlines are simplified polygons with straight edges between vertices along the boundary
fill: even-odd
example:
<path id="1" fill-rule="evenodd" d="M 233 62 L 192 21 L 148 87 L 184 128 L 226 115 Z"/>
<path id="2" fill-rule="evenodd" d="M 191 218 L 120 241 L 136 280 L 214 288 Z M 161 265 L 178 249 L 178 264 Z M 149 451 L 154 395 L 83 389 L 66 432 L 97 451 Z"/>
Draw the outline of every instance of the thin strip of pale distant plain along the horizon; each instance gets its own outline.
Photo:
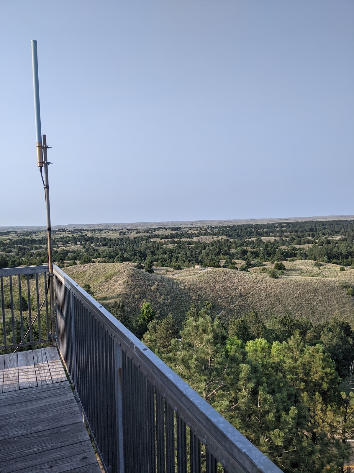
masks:
<path id="1" fill-rule="evenodd" d="M 306 220 L 354 220 L 354 215 L 322 215 L 316 217 L 278 217 L 272 219 L 229 219 L 229 220 L 191 220 L 191 221 L 170 221 L 170 222 L 131 222 L 131 223 L 72 223 L 68 225 L 52 225 L 51 228 L 112 228 L 124 230 L 126 228 L 156 228 L 156 227 L 218 227 L 221 225 L 247 225 L 250 223 L 274 223 L 274 222 L 303 222 Z M 42 231 L 45 226 L 19 226 L 0 227 L 1 232 L 6 231 Z"/>

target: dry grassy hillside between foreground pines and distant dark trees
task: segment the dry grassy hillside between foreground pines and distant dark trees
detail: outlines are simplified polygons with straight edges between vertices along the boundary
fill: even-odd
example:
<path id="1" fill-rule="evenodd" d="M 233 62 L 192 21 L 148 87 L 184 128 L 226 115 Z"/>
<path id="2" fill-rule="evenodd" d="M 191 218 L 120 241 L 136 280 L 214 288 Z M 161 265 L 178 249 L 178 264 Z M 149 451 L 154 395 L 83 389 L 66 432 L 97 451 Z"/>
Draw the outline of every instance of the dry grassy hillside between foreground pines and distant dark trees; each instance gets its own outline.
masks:
<path id="1" fill-rule="evenodd" d="M 96 298 L 109 302 L 123 298 L 127 311 L 136 316 L 144 301 L 150 301 L 164 317 L 172 312 L 182 320 L 192 302 L 209 300 L 225 318 L 256 310 L 264 320 L 275 315 L 308 316 L 320 322 L 337 315 L 354 325 L 354 298 L 341 283 L 354 285 L 354 270 L 339 271 L 338 265 L 314 268 L 312 261 L 285 262 L 284 276 L 271 279 L 259 273 L 207 268 L 166 272 L 154 268 L 149 274 L 131 264 L 85 264 L 65 268 L 80 285 L 91 284 Z M 272 267 L 268 263 L 269 267 Z"/>

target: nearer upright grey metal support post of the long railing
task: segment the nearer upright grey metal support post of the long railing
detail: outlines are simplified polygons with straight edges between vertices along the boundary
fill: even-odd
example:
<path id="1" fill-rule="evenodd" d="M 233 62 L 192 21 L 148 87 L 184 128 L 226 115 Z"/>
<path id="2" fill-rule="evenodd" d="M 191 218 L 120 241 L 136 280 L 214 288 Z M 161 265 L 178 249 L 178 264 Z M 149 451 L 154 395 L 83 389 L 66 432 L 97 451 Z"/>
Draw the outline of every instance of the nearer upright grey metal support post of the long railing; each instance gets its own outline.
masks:
<path id="1" fill-rule="evenodd" d="M 115 392 L 116 392 L 116 430 L 118 472 L 124 473 L 123 446 L 123 406 L 122 406 L 122 356 L 118 343 L 114 343 Z"/>

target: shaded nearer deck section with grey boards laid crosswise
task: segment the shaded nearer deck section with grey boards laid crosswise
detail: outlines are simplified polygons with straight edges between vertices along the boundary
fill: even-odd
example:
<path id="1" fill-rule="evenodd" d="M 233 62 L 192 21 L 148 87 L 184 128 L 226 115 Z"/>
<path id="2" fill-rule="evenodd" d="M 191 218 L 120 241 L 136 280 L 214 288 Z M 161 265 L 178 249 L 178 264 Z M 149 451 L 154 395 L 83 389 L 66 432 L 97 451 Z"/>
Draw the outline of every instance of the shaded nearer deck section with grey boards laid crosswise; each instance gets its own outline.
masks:
<path id="1" fill-rule="evenodd" d="M 31 393 L 26 403 L 25 394 Z M 49 394 L 51 404 L 45 409 Z M 9 395 L 15 402 L 7 404 Z M 5 414 L 1 416 L 5 421 L 0 422 L 1 471 L 101 473 L 68 381 L 0 394 L 1 403 Z"/>

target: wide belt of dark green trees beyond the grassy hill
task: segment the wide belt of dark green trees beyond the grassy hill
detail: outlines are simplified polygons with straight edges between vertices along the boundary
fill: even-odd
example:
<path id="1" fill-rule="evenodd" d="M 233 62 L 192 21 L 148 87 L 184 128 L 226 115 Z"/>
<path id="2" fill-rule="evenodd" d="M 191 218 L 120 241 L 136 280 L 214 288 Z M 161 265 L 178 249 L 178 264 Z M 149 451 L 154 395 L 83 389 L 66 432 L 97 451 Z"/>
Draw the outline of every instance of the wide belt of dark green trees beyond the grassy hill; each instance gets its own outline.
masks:
<path id="1" fill-rule="evenodd" d="M 0 268 L 45 264 L 48 261 L 46 237 L 35 238 L 27 234 L 0 241 Z M 211 236 L 211 241 L 190 239 L 203 235 Z M 273 236 L 275 239 L 263 241 L 261 236 Z M 329 236 L 339 236 L 339 239 L 333 240 Z M 162 241 L 156 241 L 156 238 Z M 296 245 L 312 246 L 296 248 Z M 143 265 L 151 260 L 157 266 L 177 266 L 177 269 L 197 263 L 220 267 L 220 260 L 227 260 L 224 267 L 228 267 L 232 260 L 243 260 L 247 267 L 251 267 L 262 262 L 287 259 L 353 265 L 354 220 L 238 225 L 199 228 L 194 232 L 180 230 L 169 235 L 150 232 L 133 237 L 105 236 L 103 230 L 101 233 L 95 230 L 93 235 L 74 233 L 53 238 L 53 260 L 60 267 L 76 264 L 77 261 L 88 264 L 93 260 Z"/>

